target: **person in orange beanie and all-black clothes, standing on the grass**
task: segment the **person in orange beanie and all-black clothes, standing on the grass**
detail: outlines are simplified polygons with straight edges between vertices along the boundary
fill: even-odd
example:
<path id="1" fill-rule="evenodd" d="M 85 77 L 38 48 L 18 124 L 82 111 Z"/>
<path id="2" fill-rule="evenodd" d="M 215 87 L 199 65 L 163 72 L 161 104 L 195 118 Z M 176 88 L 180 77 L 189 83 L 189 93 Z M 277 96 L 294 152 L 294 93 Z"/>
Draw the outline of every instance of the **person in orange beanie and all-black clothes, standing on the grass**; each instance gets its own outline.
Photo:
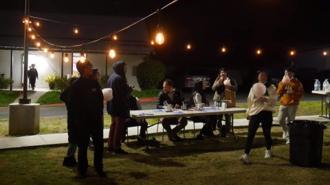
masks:
<path id="1" fill-rule="evenodd" d="M 80 77 L 72 84 L 69 92 L 74 123 L 78 136 L 78 173 L 79 177 L 86 177 L 88 160 L 87 145 L 89 137 L 94 144 L 94 169 L 100 177 L 107 176 L 103 171 L 103 94 L 100 84 L 90 79 L 92 74 L 91 62 L 78 61 L 77 69 Z"/>

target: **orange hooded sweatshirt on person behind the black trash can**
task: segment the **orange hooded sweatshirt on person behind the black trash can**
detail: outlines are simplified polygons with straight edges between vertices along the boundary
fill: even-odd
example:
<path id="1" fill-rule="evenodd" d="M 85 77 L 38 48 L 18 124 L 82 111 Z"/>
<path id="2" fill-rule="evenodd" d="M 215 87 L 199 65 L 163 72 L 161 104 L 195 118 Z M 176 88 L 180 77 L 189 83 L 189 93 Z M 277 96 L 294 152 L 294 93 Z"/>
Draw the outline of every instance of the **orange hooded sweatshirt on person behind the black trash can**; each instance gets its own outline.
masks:
<path id="1" fill-rule="evenodd" d="M 281 106 L 299 105 L 304 93 L 303 85 L 296 78 L 292 78 L 287 85 L 283 82 L 278 84 L 277 95 L 281 98 Z"/>

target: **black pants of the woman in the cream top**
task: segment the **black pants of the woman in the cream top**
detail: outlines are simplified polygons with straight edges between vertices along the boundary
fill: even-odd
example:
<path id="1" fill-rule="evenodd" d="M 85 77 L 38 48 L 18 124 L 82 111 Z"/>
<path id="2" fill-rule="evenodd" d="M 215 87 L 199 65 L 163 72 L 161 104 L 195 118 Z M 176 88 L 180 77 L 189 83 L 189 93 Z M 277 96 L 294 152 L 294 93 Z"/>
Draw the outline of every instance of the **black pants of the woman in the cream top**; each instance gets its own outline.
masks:
<path id="1" fill-rule="evenodd" d="M 272 129 L 273 115 L 270 111 L 261 111 L 259 114 L 250 117 L 248 138 L 245 143 L 245 153 L 249 154 L 256 130 L 258 130 L 259 124 L 263 127 L 263 136 L 265 136 L 265 143 L 267 149 L 272 147 L 272 136 L 270 136 L 270 130 Z"/>

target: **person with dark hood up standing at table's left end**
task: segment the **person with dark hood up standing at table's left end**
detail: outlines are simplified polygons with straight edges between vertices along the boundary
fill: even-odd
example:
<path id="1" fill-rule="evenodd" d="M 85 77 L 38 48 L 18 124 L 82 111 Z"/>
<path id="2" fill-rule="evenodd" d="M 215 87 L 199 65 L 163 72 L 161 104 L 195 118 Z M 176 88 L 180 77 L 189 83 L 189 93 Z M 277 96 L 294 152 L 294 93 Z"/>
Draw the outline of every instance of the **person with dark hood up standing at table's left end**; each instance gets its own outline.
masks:
<path id="1" fill-rule="evenodd" d="M 113 99 L 107 102 L 107 112 L 111 115 L 111 125 L 108 139 L 108 151 L 127 153 L 121 148 L 120 139 L 129 118 L 129 95 L 133 89 L 127 84 L 126 63 L 122 61 L 113 64 L 114 73 L 108 79 L 108 88 L 112 89 Z"/>

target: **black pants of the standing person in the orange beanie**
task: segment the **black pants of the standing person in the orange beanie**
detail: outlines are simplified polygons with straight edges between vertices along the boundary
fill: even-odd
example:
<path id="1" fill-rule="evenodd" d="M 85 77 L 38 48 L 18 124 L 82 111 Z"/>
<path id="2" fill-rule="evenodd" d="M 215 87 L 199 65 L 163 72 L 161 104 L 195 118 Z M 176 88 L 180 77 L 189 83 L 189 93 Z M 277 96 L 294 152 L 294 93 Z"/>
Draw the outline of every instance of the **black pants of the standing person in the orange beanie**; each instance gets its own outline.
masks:
<path id="1" fill-rule="evenodd" d="M 83 116 L 82 116 L 83 117 Z M 103 124 L 102 116 L 85 116 L 79 119 L 78 131 L 78 171 L 86 173 L 88 167 L 87 147 L 89 138 L 94 145 L 94 168 L 96 171 L 103 169 Z"/>

